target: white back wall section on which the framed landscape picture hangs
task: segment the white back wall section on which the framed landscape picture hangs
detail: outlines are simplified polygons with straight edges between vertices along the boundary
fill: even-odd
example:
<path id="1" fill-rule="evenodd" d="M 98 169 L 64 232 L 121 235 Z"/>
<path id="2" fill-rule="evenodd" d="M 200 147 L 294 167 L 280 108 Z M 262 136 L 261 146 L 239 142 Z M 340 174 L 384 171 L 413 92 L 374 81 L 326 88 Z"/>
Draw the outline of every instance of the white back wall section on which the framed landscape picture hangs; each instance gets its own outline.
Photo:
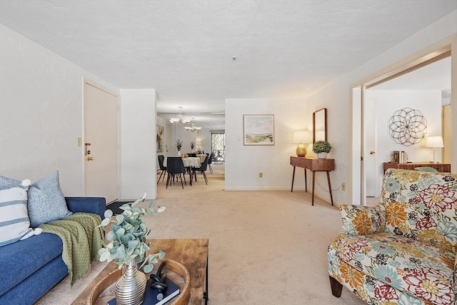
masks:
<path id="1" fill-rule="evenodd" d="M 275 145 L 244 146 L 243 114 L 274 114 Z M 290 156 L 296 156 L 297 146 L 293 131 L 307 129 L 305 114 L 303 99 L 226 99 L 225 189 L 290 189 Z M 294 189 L 304 189 L 303 171 L 296 171 Z"/>

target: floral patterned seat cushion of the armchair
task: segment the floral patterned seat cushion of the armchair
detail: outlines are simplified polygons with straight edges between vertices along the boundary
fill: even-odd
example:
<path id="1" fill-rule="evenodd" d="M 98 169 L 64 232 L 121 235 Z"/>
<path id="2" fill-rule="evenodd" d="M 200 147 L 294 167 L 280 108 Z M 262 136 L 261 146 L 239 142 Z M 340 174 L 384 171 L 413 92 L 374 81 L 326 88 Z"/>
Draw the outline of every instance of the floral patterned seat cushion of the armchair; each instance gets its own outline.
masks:
<path id="1" fill-rule="evenodd" d="M 452 252 L 388 233 L 341 236 L 335 248 L 338 259 L 384 284 L 433 304 L 453 304 Z"/>

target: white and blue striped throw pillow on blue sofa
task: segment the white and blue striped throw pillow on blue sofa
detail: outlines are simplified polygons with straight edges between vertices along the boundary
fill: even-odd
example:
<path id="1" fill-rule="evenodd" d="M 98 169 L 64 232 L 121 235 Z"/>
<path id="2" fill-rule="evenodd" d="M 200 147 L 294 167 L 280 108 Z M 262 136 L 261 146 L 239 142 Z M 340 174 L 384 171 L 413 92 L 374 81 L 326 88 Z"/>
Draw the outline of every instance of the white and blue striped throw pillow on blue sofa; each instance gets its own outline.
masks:
<path id="1" fill-rule="evenodd" d="M 0 246 L 34 235 L 27 213 L 27 190 L 22 187 L 0 190 Z"/>

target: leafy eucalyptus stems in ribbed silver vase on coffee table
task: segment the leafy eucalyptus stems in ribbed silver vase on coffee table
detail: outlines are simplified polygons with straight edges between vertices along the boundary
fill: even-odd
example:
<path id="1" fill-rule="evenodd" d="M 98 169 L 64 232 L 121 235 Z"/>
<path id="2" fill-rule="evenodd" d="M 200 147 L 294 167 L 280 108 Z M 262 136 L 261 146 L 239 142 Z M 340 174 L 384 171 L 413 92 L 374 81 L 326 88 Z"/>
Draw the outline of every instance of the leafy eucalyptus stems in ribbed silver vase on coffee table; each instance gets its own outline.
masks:
<path id="1" fill-rule="evenodd" d="M 116 304 L 141 304 L 144 291 L 146 291 L 146 275 L 137 269 L 143 269 L 149 273 L 154 269 L 158 259 L 165 256 L 163 251 L 148 254 L 150 243 L 146 243 L 146 236 L 151 229 L 146 228 L 144 216 L 154 215 L 165 210 L 165 206 L 155 207 L 154 201 L 149 206 L 149 211 L 136 207 L 136 204 L 144 201 L 144 195 L 129 204 L 123 204 L 122 214 L 113 215 L 113 211 L 105 211 L 105 219 L 101 221 L 101 228 L 107 230 L 111 224 L 106 240 L 102 241 L 103 247 L 99 250 L 100 261 L 114 261 L 119 268 L 126 266 L 124 274 L 116 282 Z"/>

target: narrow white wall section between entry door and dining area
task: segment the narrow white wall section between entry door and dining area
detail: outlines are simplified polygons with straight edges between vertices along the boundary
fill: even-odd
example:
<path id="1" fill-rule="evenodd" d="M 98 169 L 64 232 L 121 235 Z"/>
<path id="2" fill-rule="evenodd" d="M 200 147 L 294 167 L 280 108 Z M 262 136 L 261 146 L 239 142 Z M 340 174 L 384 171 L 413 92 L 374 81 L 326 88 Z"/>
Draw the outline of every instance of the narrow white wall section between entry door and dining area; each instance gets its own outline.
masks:
<path id="1" fill-rule="evenodd" d="M 156 90 L 121 89 L 121 199 L 156 199 Z"/>

